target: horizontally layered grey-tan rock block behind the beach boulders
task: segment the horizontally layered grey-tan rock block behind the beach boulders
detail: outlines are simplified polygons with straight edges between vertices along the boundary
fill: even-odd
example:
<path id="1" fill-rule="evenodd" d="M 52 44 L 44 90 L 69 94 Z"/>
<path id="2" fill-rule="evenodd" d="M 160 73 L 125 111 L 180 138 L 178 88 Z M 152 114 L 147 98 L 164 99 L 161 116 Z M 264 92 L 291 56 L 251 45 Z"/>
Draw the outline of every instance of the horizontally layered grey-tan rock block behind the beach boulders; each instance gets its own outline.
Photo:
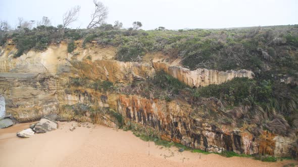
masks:
<path id="1" fill-rule="evenodd" d="M 56 79 L 40 73 L 0 73 L 0 92 L 7 112 L 18 121 L 34 121 L 57 113 Z"/>

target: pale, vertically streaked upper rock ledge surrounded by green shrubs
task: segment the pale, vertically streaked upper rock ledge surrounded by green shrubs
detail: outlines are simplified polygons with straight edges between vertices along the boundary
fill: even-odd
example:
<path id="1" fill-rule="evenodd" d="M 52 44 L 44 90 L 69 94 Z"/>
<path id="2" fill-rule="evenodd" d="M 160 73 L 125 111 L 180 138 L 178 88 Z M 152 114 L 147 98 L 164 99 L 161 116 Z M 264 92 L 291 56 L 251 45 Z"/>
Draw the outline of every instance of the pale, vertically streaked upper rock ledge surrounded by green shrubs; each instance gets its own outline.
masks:
<path id="1" fill-rule="evenodd" d="M 192 88 L 205 87 L 211 84 L 222 84 L 223 82 L 235 77 L 254 77 L 254 73 L 252 71 L 245 69 L 238 71 L 218 71 L 206 68 L 190 70 L 181 66 L 170 66 L 167 63 L 154 62 L 153 65 L 156 70 L 164 70 Z"/>

